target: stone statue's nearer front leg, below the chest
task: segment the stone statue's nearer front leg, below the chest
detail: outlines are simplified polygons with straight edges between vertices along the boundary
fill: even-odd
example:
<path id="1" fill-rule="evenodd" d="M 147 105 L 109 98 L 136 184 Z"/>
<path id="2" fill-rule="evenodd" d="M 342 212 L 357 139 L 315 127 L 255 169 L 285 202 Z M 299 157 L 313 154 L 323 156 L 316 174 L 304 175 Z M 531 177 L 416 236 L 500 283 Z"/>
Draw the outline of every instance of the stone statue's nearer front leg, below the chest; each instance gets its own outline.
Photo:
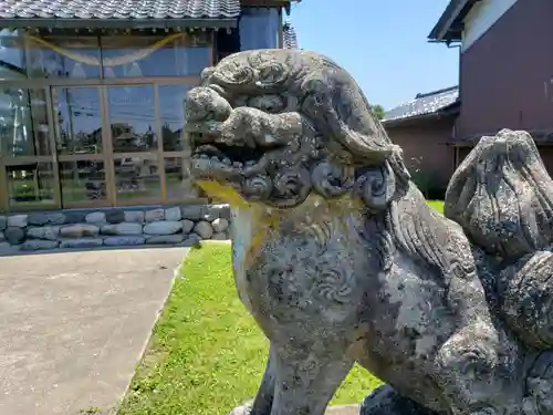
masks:
<path id="1" fill-rule="evenodd" d="M 275 387 L 271 415 L 324 415 L 353 360 L 335 349 L 304 344 L 274 347 Z"/>

